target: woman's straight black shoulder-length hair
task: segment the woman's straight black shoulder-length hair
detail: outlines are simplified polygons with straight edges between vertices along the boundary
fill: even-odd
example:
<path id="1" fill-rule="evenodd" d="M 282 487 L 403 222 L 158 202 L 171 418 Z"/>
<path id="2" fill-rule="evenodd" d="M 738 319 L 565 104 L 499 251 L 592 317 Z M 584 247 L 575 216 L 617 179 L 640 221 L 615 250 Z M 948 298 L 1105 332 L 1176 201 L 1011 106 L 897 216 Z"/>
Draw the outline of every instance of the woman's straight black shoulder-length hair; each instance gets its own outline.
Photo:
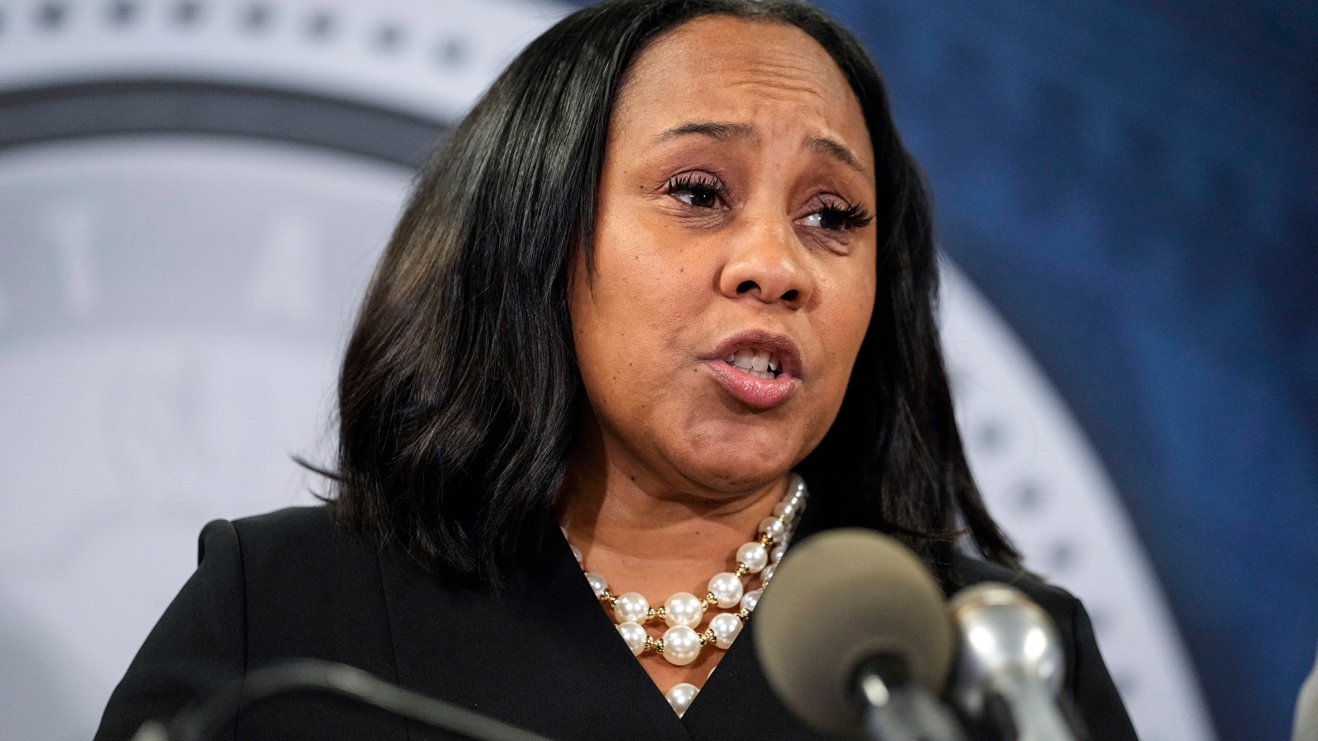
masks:
<path id="1" fill-rule="evenodd" d="M 606 0 L 536 38 L 444 138 L 376 268 L 339 380 L 337 519 L 449 574 L 500 580 L 548 531 L 584 394 L 568 274 L 609 119 L 648 42 L 705 15 L 791 24 L 833 57 L 874 145 L 878 294 L 833 427 L 797 467 L 829 523 L 899 535 L 944 579 L 958 538 L 1017 566 L 971 480 L 934 314 L 929 202 L 879 73 L 782 0 Z"/>

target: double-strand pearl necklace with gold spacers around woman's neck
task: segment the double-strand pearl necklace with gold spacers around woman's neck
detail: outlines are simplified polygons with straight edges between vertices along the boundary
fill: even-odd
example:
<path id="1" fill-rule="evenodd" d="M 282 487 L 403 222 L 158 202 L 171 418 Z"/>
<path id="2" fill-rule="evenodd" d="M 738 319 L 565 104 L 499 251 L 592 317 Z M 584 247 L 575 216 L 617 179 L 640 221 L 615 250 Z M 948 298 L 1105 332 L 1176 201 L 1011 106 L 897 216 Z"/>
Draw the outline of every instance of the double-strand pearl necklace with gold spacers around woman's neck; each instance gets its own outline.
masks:
<path id="1" fill-rule="evenodd" d="M 601 605 L 613 609 L 618 634 L 631 649 L 631 655 L 639 657 L 647 650 L 654 650 L 668 663 L 685 666 L 696 661 L 705 646 L 713 645 L 724 650 L 731 646 L 742 630 L 743 621 L 755 609 L 768 580 L 774 578 L 774 570 L 778 568 L 778 562 L 791 542 L 796 518 L 805 508 L 807 496 L 805 481 L 792 473 L 787 483 L 787 493 L 774 505 L 774 514 L 759 522 L 759 537 L 737 548 L 737 570 L 716 574 L 709 580 L 702 599 L 691 592 L 676 592 L 664 600 L 663 607 L 651 608 L 639 592 L 613 595 L 604 576 L 587 571 L 585 579 L 594 596 Z M 563 531 L 563 537 L 567 537 L 567 530 Z M 572 555 L 581 564 L 581 551 L 576 546 L 571 547 Z M 759 575 L 759 588 L 746 592 L 742 578 L 749 574 Z M 696 632 L 695 628 L 704 620 L 705 610 L 716 605 L 721 609 L 738 607 L 739 609 L 716 614 L 709 620 L 709 628 L 704 633 Z M 646 622 L 656 618 L 668 625 L 663 637 L 658 639 L 645 629 Z M 696 692 L 699 692 L 696 686 L 683 682 L 668 690 L 664 696 L 677 712 L 677 717 L 681 717 L 696 697 Z"/>

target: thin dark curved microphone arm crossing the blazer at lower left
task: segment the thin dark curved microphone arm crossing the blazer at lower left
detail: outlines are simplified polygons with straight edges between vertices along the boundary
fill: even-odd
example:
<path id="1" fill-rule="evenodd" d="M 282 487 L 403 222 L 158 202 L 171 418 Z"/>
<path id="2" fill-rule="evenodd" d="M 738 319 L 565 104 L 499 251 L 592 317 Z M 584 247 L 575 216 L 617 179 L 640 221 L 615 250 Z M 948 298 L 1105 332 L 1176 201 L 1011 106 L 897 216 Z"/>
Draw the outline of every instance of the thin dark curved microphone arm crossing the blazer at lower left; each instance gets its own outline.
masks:
<path id="1" fill-rule="evenodd" d="M 206 741 L 239 708 L 286 692 L 326 692 L 477 741 L 550 741 L 501 720 L 395 687 L 341 663 L 294 659 L 228 682 L 169 724 L 149 720 L 132 741 Z"/>

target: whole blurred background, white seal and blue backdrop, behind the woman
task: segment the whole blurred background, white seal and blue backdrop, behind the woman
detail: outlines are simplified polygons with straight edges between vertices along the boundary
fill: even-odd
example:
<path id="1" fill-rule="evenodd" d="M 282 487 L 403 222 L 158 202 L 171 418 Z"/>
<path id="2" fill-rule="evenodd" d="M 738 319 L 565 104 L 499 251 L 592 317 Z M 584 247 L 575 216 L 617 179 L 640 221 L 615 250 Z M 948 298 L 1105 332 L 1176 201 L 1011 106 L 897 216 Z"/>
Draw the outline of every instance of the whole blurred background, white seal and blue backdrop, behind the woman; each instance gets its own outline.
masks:
<path id="1" fill-rule="evenodd" d="M 1318 646 L 1318 7 L 826 0 L 945 253 L 958 421 L 1145 741 Z M 311 504 L 415 167 L 567 5 L 0 0 L 0 738 L 87 738 L 211 518 Z"/>

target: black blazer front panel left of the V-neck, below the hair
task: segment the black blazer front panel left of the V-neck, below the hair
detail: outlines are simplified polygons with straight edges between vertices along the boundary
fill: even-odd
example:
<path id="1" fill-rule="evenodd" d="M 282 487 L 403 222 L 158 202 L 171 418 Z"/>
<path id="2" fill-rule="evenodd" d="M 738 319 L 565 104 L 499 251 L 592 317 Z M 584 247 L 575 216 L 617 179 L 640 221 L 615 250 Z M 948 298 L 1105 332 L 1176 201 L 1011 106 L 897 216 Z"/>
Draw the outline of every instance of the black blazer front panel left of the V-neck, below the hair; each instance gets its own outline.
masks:
<path id="1" fill-rule="evenodd" d="M 500 595 L 381 554 L 399 683 L 560 741 L 691 738 L 600 608 L 558 529 Z M 447 738 L 416 724 L 409 738 Z"/>

